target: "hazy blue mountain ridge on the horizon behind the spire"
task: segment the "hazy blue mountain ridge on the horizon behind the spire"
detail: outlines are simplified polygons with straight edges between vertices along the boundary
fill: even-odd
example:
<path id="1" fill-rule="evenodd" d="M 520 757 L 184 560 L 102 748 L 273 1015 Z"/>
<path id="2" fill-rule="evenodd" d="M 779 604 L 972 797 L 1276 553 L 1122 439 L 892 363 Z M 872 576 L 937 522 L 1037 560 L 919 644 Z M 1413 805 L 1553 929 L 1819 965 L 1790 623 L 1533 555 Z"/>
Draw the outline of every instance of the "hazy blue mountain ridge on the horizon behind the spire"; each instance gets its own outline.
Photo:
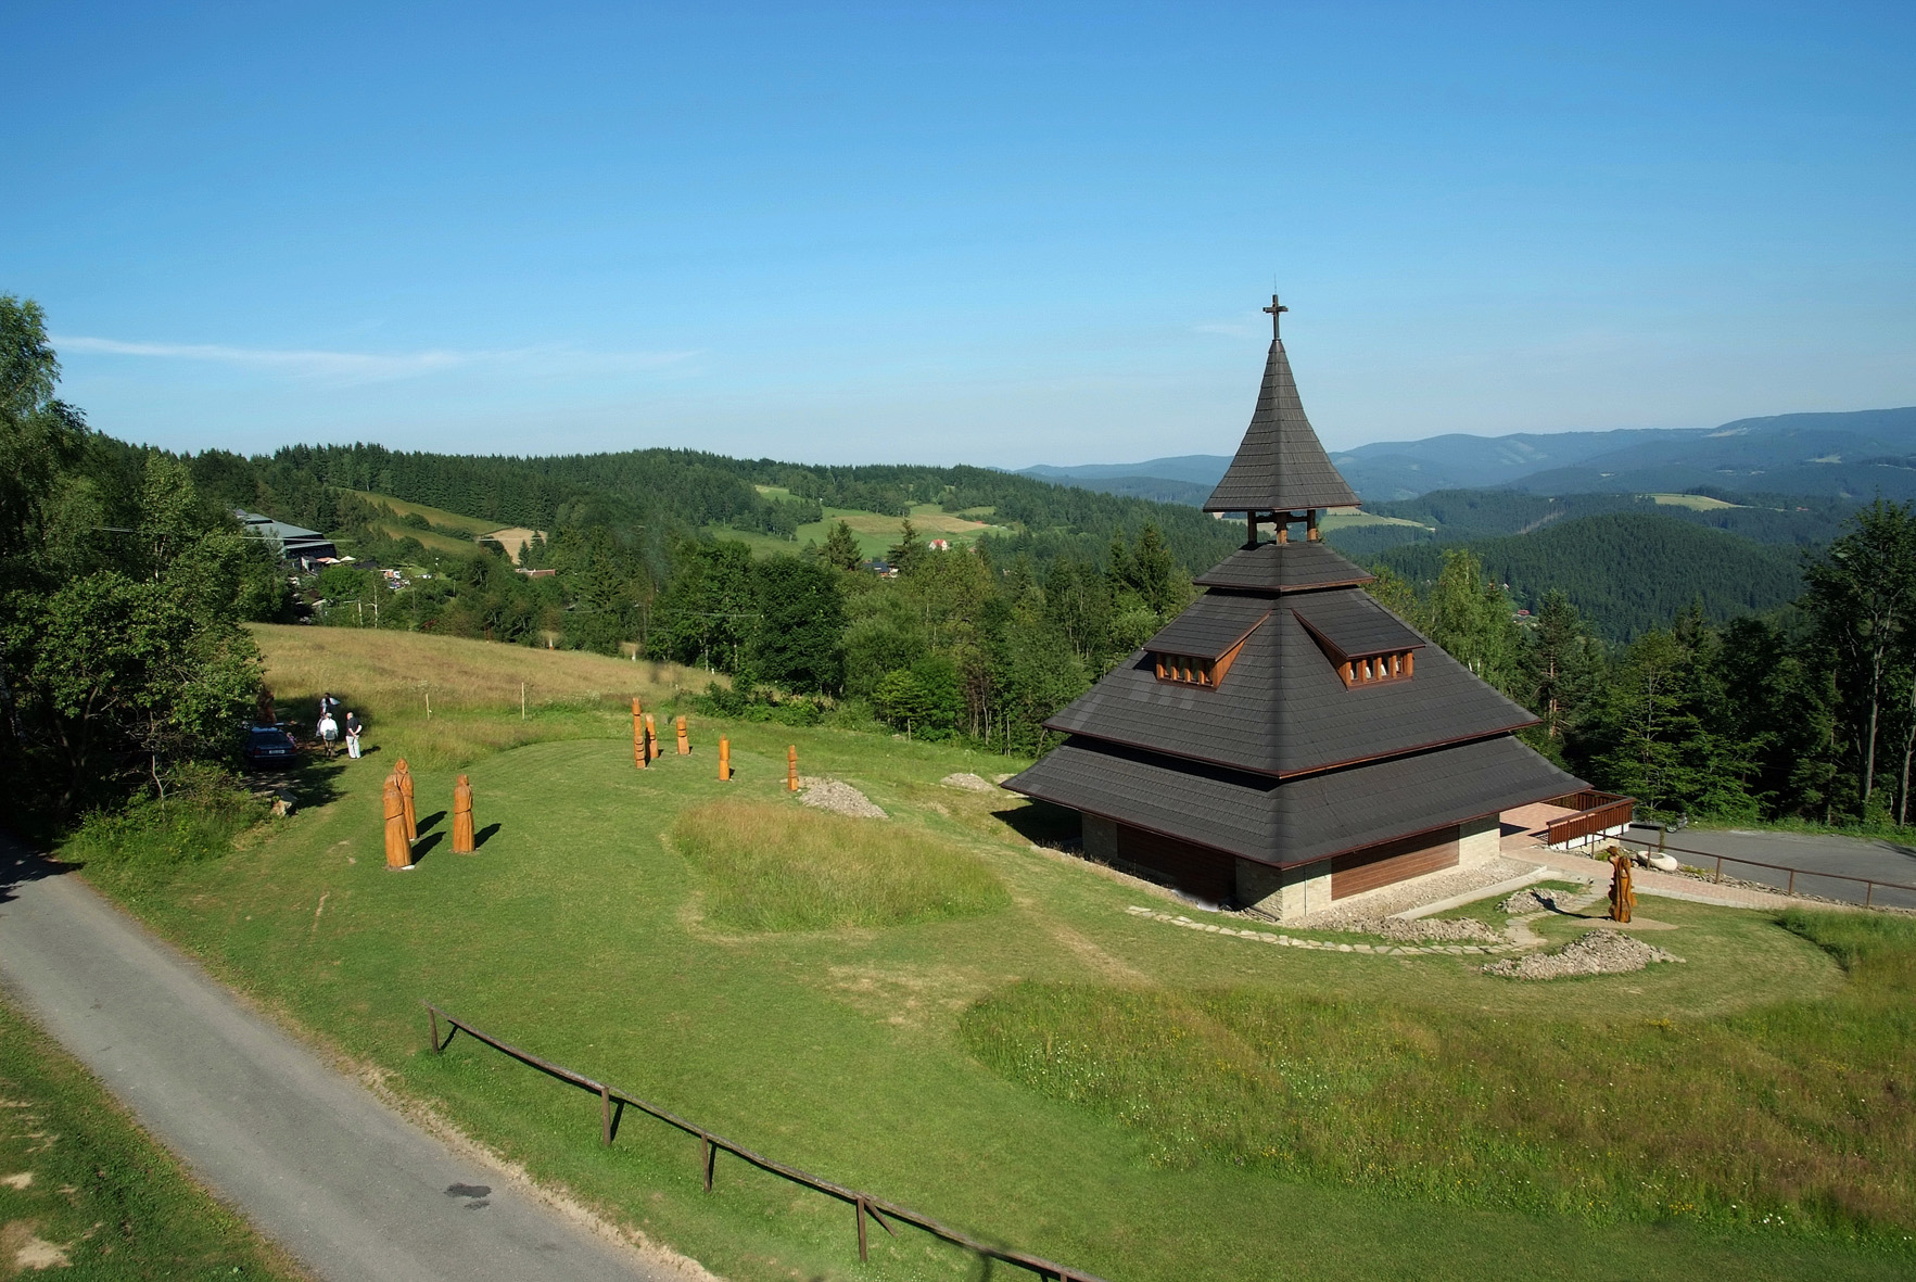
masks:
<path id="1" fill-rule="evenodd" d="M 1719 427 L 1447 433 L 1376 441 L 1332 454 L 1366 502 L 1450 489 L 1533 494 L 1736 492 L 1916 498 L 1916 406 L 1740 418 Z M 1140 464 L 1038 466 L 1019 475 L 1198 506 L 1224 475 L 1224 454 Z M 1201 491 L 1201 492 L 1199 492 Z"/>

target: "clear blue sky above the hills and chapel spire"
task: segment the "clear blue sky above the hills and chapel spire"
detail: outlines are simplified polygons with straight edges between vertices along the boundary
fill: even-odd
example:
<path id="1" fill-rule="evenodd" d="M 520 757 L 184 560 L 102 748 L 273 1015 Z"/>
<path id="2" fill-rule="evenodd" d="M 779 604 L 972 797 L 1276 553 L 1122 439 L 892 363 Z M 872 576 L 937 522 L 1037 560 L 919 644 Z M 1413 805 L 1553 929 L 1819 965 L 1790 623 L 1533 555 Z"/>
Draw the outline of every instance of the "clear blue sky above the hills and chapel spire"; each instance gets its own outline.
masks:
<path id="1" fill-rule="evenodd" d="M 1228 452 L 1916 402 L 1916 6 L 0 6 L 0 291 L 174 448 Z"/>

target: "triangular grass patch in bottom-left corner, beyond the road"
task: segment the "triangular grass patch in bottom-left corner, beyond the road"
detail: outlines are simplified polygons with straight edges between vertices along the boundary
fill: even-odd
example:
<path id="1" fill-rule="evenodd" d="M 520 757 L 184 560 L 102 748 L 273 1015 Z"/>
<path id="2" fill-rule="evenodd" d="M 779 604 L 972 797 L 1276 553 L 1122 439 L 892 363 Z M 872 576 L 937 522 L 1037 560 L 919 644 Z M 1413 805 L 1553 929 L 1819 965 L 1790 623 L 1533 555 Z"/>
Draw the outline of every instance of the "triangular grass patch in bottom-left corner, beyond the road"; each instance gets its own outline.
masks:
<path id="1" fill-rule="evenodd" d="M 307 1276 L 0 998 L 0 1278 L 236 1274 Z"/>

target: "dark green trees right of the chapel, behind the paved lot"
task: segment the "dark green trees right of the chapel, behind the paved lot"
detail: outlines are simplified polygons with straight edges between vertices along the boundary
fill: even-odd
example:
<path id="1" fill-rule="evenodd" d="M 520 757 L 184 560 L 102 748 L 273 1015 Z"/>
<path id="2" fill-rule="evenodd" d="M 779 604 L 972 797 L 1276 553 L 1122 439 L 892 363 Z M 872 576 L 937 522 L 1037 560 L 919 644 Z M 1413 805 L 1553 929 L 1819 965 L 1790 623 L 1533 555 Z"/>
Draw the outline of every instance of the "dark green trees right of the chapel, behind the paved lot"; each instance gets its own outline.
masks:
<path id="1" fill-rule="evenodd" d="M 1562 588 L 1529 627 L 1470 550 L 1374 592 L 1540 719 L 1525 738 L 1657 814 L 1906 826 L 1916 765 L 1916 514 L 1878 502 L 1784 609 L 1699 604 L 1611 644 Z"/>

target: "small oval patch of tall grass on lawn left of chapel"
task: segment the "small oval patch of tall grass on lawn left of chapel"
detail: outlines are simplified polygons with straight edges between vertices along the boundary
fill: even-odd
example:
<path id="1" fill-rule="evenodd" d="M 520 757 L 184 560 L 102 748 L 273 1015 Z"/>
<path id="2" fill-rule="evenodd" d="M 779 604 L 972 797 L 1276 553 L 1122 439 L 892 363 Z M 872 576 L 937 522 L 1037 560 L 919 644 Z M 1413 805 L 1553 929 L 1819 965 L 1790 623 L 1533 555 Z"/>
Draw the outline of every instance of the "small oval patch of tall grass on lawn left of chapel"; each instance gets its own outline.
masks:
<path id="1" fill-rule="evenodd" d="M 929 834 L 789 805 L 694 807 L 673 841 L 703 874 L 711 918 L 738 929 L 904 926 L 1010 903 L 991 868 Z"/>

